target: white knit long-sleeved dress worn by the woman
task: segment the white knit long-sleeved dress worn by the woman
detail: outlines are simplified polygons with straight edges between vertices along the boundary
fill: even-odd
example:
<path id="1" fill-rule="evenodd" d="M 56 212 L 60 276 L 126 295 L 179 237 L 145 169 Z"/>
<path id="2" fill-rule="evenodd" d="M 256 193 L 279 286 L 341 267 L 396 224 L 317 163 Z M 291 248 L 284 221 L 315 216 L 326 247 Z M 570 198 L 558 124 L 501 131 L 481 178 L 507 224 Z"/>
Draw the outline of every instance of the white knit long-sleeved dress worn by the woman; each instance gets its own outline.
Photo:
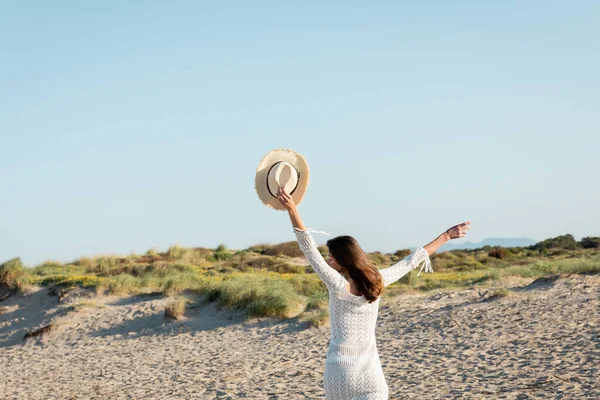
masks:
<path id="1" fill-rule="evenodd" d="M 323 259 L 310 233 L 294 231 L 300 249 L 329 290 L 331 341 L 325 361 L 325 396 L 330 400 L 387 400 L 388 387 L 375 341 L 380 299 L 369 303 L 364 296 L 350 293 L 348 281 Z M 433 272 L 423 248 L 379 270 L 384 285 L 397 281 L 422 262 L 426 271 Z"/>

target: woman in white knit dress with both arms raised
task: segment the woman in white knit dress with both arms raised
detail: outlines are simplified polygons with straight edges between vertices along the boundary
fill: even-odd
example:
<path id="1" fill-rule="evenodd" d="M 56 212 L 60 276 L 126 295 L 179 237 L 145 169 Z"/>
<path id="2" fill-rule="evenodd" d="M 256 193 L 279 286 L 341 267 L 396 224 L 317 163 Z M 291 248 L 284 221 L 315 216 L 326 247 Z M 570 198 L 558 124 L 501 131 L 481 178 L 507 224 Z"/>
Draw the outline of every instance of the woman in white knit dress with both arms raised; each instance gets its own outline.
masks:
<path id="1" fill-rule="evenodd" d="M 431 270 L 429 255 L 448 240 L 463 237 L 470 222 L 453 226 L 399 263 L 378 271 L 350 236 L 327 242 L 330 257 L 325 262 L 294 200 L 281 188 L 277 198 L 288 211 L 300 249 L 329 291 L 331 342 L 325 361 L 327 399 L 387 399 L 388 387 L 375 342 L 381 292 L 421 263 L 425 263 L 425 270 Z"/>

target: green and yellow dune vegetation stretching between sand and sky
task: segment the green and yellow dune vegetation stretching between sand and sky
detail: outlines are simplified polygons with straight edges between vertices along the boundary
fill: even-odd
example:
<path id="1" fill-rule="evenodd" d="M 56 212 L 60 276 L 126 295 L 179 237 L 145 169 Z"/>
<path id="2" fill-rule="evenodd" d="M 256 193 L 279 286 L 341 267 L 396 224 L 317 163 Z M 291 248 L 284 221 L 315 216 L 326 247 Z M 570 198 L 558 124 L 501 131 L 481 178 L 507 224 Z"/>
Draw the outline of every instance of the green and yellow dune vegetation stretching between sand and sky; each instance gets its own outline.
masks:
<path id="1" fill-rule="evenodd" d="M 484 247 L 454 250 L 431 257 L 434 274 L 412 271 L 388 287 L 389 294 L 472 285 L 498 286 L 507 277 L 537 278 L 551 274 L 600 273 L 600 238 L 580 242 L 572 235 L 547 239 L 531 247 Z M 327 248 L 319 248 L 327 255 Z M 369 253 L 377 268 L 393 265 L 410 254 L 398 250 Z M 171 246 L 144 255 L 102 255 L 62 264 L 48 261 L 26 268 L 16 258 L 0 265 L 0 285 L 23 290 L 29 285 L 53 286 L 56 293 L 72 287 L 126 295 L 162 293 L 173 300 L 168 318 L 183 315 L 184 293 L 244 310 L 249 316 L 289 317 L 304 310 L 302 320 L 321 326 L 328 318 L 328 294 L 312 272 L 296 242 L 256 245 L 241 251 Z M 495 297 L 502 297 L 501 293 Z M 183 309 L 182 309 L 183 307 Z"/>

